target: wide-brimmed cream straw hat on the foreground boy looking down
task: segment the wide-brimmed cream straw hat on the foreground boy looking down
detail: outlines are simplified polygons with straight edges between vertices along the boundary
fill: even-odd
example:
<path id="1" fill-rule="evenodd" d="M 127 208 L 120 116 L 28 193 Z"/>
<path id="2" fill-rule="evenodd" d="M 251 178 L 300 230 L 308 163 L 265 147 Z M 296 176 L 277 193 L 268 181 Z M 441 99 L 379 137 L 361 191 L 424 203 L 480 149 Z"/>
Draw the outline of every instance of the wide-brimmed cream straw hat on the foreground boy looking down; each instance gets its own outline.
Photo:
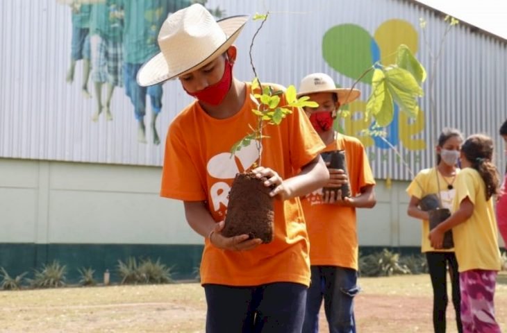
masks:
<path id="1" fill-rule="evenodd" d="M 241 15 L 216 22 L 199 3 L 169 15 L 158 33 L 161 52 L 141 67 L 139 85 L 155 85 L 206 65 L 227 51 L 247 20 Z"/>

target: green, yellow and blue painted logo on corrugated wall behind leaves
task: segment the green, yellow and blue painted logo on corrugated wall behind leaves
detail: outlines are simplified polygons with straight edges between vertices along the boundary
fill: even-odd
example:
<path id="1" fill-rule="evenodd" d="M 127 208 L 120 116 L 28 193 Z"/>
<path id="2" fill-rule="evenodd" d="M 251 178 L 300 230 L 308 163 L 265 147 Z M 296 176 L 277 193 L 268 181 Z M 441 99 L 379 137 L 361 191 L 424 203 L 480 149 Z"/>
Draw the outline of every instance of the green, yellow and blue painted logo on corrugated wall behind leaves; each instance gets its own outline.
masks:
<path id="1" fill-rule="evenodd" d="M 340 42 L 337 42 L 340 41 Z M 389 19 L 383 22 L 371 35 L 365 28 L 356 24 L 340 24 L 329 28 L 322 38 L 322 56 L 326 63 L 339 74 L 361 83 L 371 85 L 372 71 L 365 74 L 365 70 L 375 62 L 390 65 L 395 62 L 394 52 L 400 44 L 406 44 L 417 55 L 419 35 L 409 22 L 401 19 Z M 390 146 L 379 137 L 363 134 L 363 130 L 371 129 L 372 123 L 364 120 L 366 96 L 362 100 L 354 101 L 349 106 L 349 117 L 342 121 L 342 131 L 347 135 L 358 137 L 369 149 L 369 160 L 380 158 L 387 160 Z M 426 142 L 422 138 L 424 133 L 424 110 L 419 110 L 416 119 L 410 119 L 404 112 L 400 112 L 394 104 L 394 119 L 385 128 L 385 139 L 406 151 L 422 152 L 426 150 Z M 406 153 L 407 162 L 420 162 L 421 155 Z M 414 161 L 411 161 L 411 158 Z M 399 162 L 399 161 L 398 161 Z"/>

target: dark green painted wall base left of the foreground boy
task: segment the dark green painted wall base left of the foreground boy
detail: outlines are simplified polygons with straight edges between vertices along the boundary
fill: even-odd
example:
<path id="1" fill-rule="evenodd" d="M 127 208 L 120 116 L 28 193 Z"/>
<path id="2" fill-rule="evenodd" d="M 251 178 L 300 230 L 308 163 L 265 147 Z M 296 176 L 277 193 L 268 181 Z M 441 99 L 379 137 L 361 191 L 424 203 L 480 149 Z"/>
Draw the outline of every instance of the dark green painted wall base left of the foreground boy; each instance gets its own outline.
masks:
<path id="1" fill-rule="evenodd" d="M 126 262 L 128 257 L 146 258 L 172 266 L 175 280 L 193 279 L 196 267 L 201 262 L 202 245 L 165 244 L 0 244 L 0 266 L 10 276 L 28 272 L 26 278 L 33 278 L 33 270 L 58 260 L 67 266 L 67 283 L 77 283 L 78 268 L 91 267 L 95 280 L 103 281 L 103 273 L 110 271 L 110 281 L 118 282 L 118 260 Z"/>

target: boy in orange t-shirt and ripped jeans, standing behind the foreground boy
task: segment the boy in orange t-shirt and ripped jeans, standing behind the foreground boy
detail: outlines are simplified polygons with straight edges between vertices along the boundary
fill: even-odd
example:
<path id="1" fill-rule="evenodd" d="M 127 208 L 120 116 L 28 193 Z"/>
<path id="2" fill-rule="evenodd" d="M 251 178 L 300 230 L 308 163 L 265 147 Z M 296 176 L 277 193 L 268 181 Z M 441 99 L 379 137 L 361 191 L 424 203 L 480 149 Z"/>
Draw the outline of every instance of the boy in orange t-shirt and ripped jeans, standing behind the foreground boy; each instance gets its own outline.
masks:
<path id="1" fill-rule="evenodd" d="M 340 105 L 357 99 L 357 89 L 337 89 L 333 79 L 314 73 L 301 80 L 298 96 L 309 96 L 319 104 L 305 108 L 310 122 L 321 137 L 326 152 L 344 150 L 348 174 L 329 169 L 326 189 L 318 189 L 301 200 L 310 237 L 311 283 L 306 296 L 303 332 L 319 332 L 319 309 L 324 309 L 329 332 L 356 332 L 354 296 L 358 293 L 358 239 L 356 208 L 372 208 L 376 203 L 375 180 L 365 148 L 355 137 L 333 128 Z M 349 185 L 351 196 L 342 198 L 340 187 Z"/>

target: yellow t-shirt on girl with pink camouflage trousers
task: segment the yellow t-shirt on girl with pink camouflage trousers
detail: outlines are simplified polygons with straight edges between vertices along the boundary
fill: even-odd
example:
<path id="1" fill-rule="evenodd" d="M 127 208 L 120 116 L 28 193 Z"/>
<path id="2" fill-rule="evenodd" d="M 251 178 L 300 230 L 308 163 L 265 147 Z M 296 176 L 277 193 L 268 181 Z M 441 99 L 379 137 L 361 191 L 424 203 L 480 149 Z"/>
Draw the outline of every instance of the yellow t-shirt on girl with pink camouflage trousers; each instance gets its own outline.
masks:
<path id="1" fill-rule="evenodd" d="M 459 271 L 499 271 L 501 256 L 493 197 L 486 200 L 484 181 L 479 172 L 472 168 L 463 169 L 456 178 L 455 211 L 467 197 L 474 204 L 474 212 L 467 221 L 452 229 Z"/>

